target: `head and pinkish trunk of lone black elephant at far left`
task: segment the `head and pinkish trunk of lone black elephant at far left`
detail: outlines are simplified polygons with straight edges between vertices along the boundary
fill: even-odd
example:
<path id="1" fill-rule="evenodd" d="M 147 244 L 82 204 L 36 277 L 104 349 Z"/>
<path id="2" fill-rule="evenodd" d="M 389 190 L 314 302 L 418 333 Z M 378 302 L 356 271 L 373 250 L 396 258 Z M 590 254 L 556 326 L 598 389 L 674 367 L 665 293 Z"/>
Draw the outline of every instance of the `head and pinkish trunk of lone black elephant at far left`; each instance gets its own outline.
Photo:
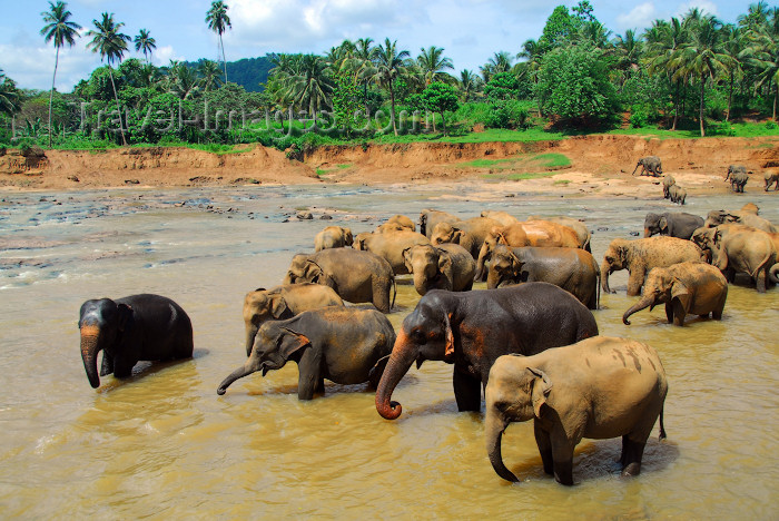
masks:
<path id="1" fill-rule="evenodd" d="M 97 371 L 98 353 L 103 351 L 105 363 L 105 356 L 112 355 L 114 346 L 132 327 L 132 308 L 127 304 L 100 298 L 87 301 L 81 305 L 78 322 L 81 332 L 81 360 L 92 389 L 100 386 L 100 376 Z"/>

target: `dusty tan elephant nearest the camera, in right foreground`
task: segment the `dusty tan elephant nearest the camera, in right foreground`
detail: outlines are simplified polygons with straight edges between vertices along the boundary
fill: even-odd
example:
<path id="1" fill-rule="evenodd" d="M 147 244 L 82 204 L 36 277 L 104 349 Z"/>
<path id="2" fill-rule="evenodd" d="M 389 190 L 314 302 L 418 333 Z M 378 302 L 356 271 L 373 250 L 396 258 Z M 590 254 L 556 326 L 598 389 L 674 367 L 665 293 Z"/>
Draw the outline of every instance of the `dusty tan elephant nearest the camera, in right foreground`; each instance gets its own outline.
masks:
<path id="1" fill-rule="evenodd" d="M 544 472 L 573 484 L 573 450 L 582 438 L 622 436 L 622 475 L 638 475 L 654 422 L 660 439 L 668 382 L 653 348 L 629 338 L 595 336 L 533 356 L 504 355 L 490 370 L 484 419 L 486 450 L 497 475 L 517 481 L 501 456 L 512 422 L 533 420 Z"/>

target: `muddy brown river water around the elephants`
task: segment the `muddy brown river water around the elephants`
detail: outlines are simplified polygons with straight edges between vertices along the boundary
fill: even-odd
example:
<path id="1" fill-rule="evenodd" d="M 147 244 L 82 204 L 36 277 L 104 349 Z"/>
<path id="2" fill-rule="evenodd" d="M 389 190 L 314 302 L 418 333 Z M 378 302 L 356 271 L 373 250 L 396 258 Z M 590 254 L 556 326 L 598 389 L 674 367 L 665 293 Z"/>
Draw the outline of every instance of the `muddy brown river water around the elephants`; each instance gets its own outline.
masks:
<path id="1" fill-rule="evenodd" d="M 496 188 L 496 189 L 494 189 Z M 532 424 L 503 441 L 493 472 L 483 413 L 458 413 L 451 366 L 403 379 L 394 422 L 364 385 L 327 383 L 297 400 L 297 367 L 256 373 L 217 396 L 245 360 L 243 296 L 278 284 L 293 254 L 327 224 L 369 230 L 434 207 L 583 218 L 599 262 L 642 232 L 663 200 L 312 186 L 6 194 L 0 197 L 0 511 L 22 519 L 776 519 L 779 510 L 779 288 L 731 285 L 721 322 L 668 325 L 662 308 L 621 322 L 627 272 L 602 295 L 601 334 L 655 347 L 665 366 L 668 440 L 648 443 L 642 474 L 619 476 L 620 441 L 584 440 L 574 481 L 543 474 Z M 506 195 L 513 197 L 506 197 Z M 779 195 L 691 197 L 684 210 L 751 200 L 779 223 Z M 309 208 L 314 220 L 287 218 Z M 333 220 L 321 220 L 323 213 Z M 477 285 L 477 288 L 483 287 Z M 189 313 L 195 357 L 139 364 L 92 390 L 79 354 L 88 298 L 159 293 Z M 401 278 L 397 327 L 417 295 Z"/>

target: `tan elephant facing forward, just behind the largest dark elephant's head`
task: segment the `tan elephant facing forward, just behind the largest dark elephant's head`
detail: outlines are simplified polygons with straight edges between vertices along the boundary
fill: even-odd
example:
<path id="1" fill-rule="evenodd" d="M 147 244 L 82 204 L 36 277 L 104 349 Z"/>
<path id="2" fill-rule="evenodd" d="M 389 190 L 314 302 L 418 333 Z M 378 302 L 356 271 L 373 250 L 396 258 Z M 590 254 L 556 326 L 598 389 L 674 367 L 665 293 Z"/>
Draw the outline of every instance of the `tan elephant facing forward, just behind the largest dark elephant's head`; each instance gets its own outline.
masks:
<path id="1" fill-rule="evenodd" d="M 403 258 L 420 295 L 431 289 L 470 292 L 473 287 L 476 262 L 458 244 L 417 244 L 404 249 Z"/>

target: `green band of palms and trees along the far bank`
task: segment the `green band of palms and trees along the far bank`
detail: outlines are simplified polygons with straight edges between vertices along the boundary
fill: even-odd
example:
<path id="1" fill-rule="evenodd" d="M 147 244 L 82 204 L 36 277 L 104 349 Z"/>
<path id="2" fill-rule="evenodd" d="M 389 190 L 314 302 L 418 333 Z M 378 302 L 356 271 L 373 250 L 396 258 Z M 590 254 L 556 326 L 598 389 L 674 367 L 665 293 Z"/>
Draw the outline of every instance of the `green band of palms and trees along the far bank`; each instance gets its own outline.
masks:
<path id="1" fill-rule="evenodd" d="M 49 7 L 41 35 L 59 58 L 80 26 L 65 2 Z M 284 148 L 312 129 L 327 130 L 331 139 L 366 139 L 479 125 L 584 131 L 658 125 L 727 135 L 736 118 L 776 120 L 779 102 L 779 8 L 762 1 L 736 23 L 693 8 L 641 32 L 613 35 L 582 0 L 570 10 L 554 8 L 536 40 L 494 52 L 477 72 L 458 73 L 443 48 L 413 56 L 389 38 L 345 40 L 322 55 L 227 62 L 227 10 L 215 1 L 205 20 L 219 36 L 221 67 L 205 59 L 156 67 L 149 32 L 131 39 L 106 12 L 86 32 L 105 65 L 71 92 L 55 88 L 57 60 L 49 91 L 20 90 L 0 69 L 0 142 L 260 141 Z M 142 60 L 125 59 L 128 43 Z"/>

